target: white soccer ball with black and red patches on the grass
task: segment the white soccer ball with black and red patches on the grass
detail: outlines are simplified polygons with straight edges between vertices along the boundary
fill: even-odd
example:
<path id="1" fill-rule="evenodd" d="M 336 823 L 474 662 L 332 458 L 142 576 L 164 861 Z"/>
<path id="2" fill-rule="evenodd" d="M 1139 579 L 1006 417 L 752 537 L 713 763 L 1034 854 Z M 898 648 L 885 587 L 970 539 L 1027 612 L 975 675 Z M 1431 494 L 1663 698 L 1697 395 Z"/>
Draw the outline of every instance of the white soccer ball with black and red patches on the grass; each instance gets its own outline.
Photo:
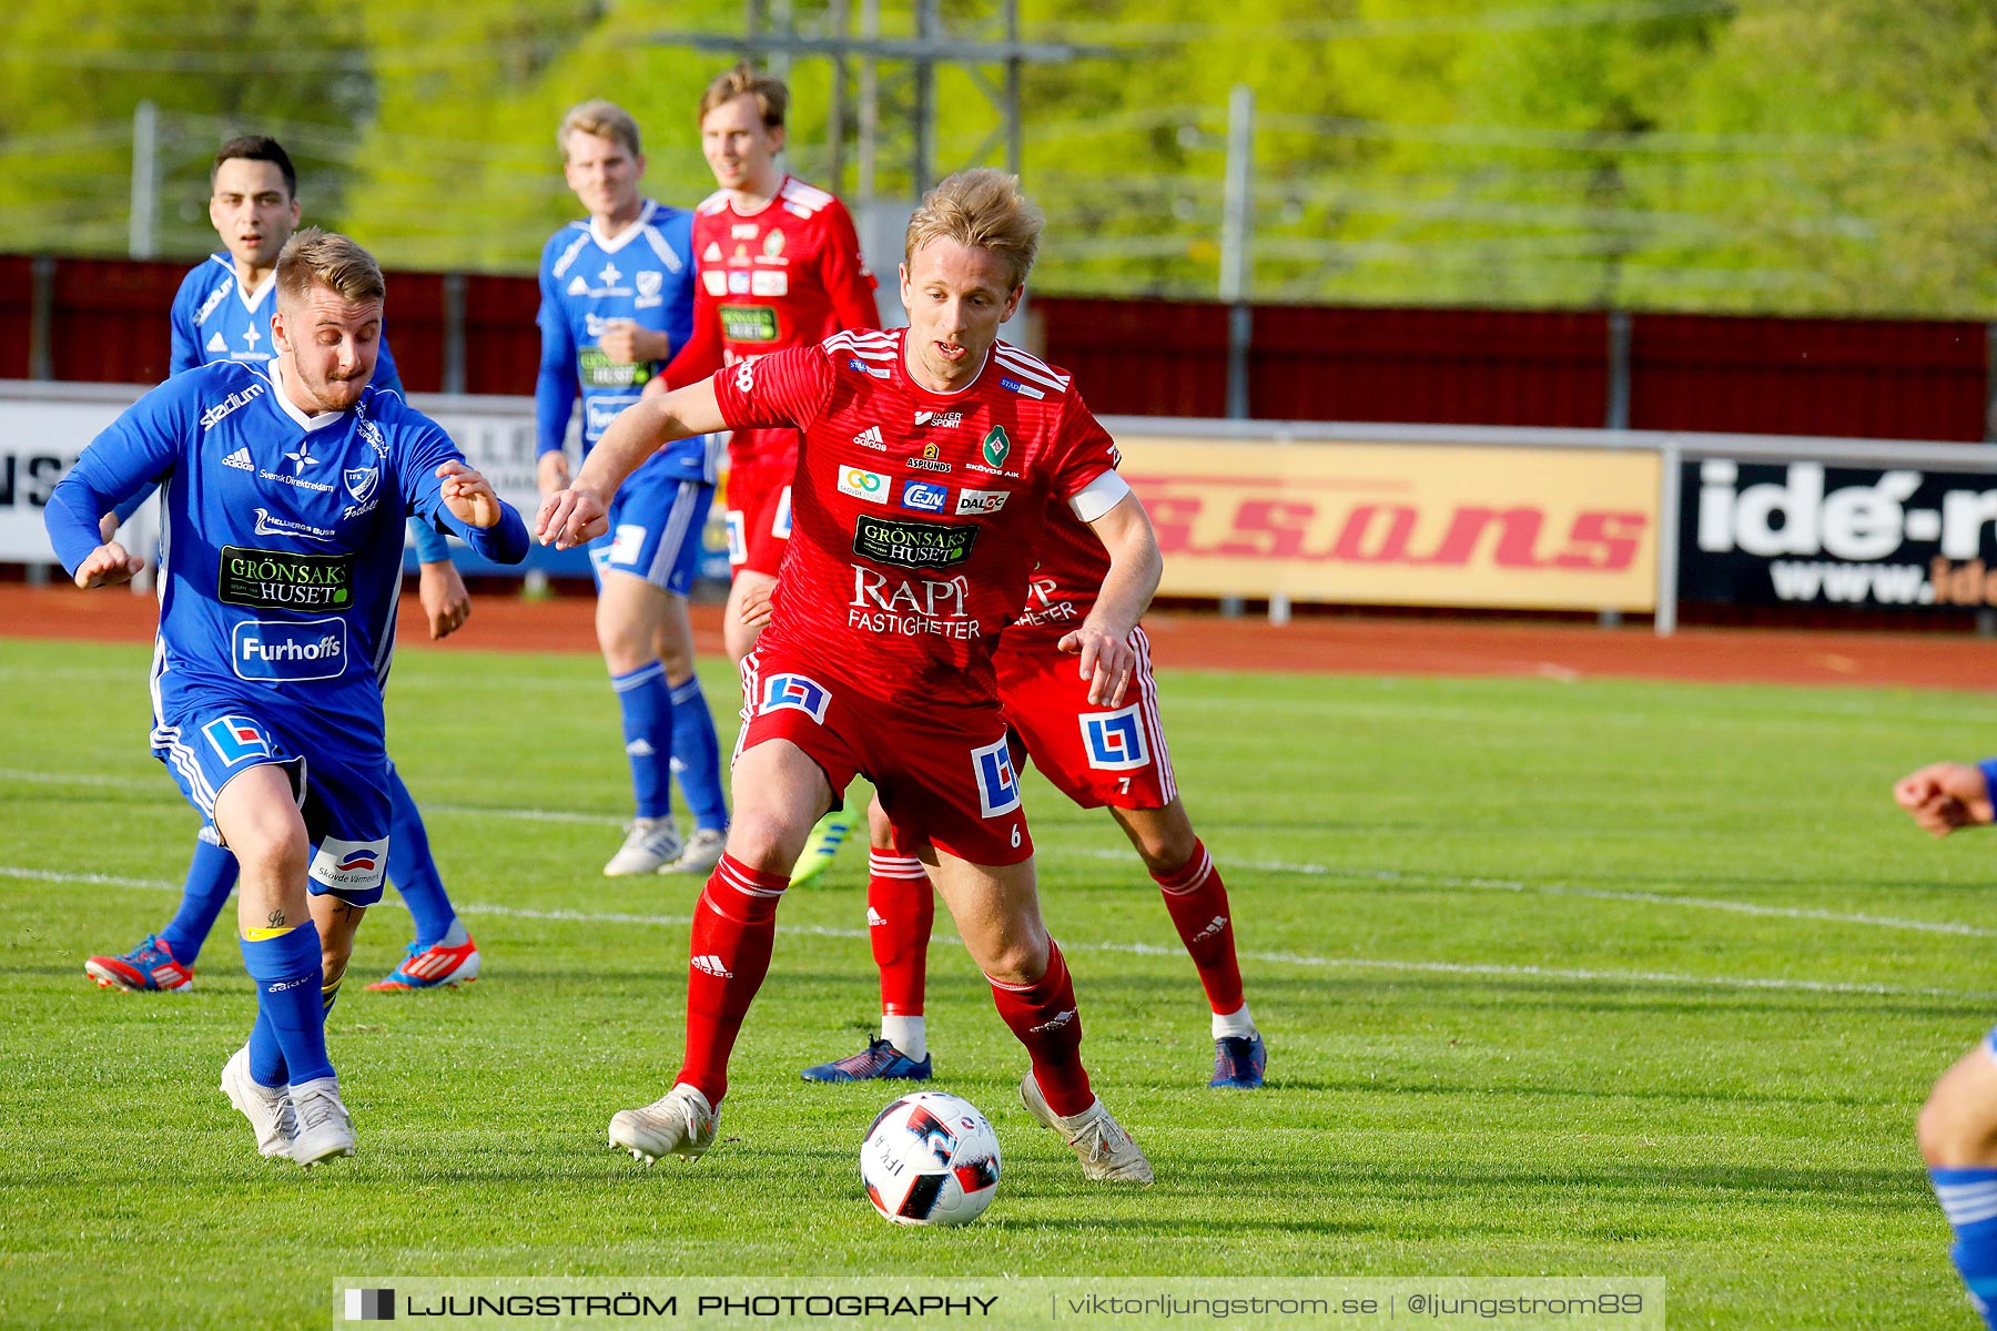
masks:
<path id="1" fill-rule="evenodd" d="M 963 1225 L 998 1191 L 998 1133 L 969 1100 L 903 1096 L 861 1141 L 867 1199 L 897 1225 Z"/>

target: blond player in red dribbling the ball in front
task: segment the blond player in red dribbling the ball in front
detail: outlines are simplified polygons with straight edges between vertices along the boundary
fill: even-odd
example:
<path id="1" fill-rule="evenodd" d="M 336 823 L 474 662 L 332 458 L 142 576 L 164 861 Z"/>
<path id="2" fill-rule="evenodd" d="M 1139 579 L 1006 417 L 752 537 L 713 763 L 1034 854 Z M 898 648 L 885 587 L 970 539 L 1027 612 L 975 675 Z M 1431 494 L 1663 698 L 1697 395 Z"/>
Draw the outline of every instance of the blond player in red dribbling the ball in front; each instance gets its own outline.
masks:
<path id="1" fill-rule="evenodd" d="M 1082 1068 L 1074 986 L 1040 924 L 997 702 L 993 649 L 1026 599 L 1050 503 L 1108 551 L 1094 607 L 1060 639 L 1094 706 L 1124 700 L 1130 633 L 1160 571 L 1116 445 L 1066 375 L 998 341 L 1038 233 L 1040 214 L 1010 176 L 945 180 L 909 220 L 907 329 L 841 333 L 649 397 L 617 417 L 573 489 L 541 505 L 541 541 L 575 545 L 603 529 L 607 497 L 661 443 L 803 431 L 783 581 L 743 663 L 735 824 L 693 912 L 685 1064 L 663 1098 L 611 1119 L 615 1147 L 655 1159 L 713 1143 L 787 870 L 811 822 L 865 772 L 1026 1046 L 1028 1111 L 1086 1177 L 1152 1177 Z"/>

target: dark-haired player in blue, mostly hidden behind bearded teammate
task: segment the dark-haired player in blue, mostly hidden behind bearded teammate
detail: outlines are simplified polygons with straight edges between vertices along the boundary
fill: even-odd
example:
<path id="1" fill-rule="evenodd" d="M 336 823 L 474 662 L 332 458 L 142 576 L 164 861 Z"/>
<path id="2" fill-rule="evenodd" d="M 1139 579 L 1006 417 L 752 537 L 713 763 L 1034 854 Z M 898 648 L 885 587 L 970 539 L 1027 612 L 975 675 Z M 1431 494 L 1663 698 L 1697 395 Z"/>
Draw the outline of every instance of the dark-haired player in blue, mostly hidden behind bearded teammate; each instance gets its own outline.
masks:
<path id="1" fill-rule="evenodd" d="M 278 251 L 298 229 L 298 174 L 290 154 L 270 138 L 244 136 L 216 152 L 210 170 L 208 220 L 222 235 L 224 251 L 212 253 L 182 279 L 172 311 L 172 373 L 214 361 L 266 365 L 276 351 L 270 337 L 272 289 Z M 401 391 L 387 339 L 371 381 L 377 389 Z M 140 495 L 138 499 L 144 499 Z M 128 517 L 136 501 L 120 505 Z M 429 637 L 441 639 L 465 623 L 471 597 L 451 565 L 443 537 L 429 525 L 411 521 L 415 533 L 419 599 Z M 110 541 L 116 519 L 106 517 Z M 389 802 L 395 810 L 395 856 L 389 880 L 415 920 L 415 942 L 385 980 L 371 990 L 421 990 L 475 980 L 479 952 L 465 930 L 443 878 L 429 854 L 429 834 L 409 798 L 409 788 L 389 764 Z M 94 956 L 84 972 L 104 988 L 132 992 L 184 990 L 194 978 L 194 962 L 214 930 L 230 890 L 236 886 L 236 858 L 216 844 L 214 828 L 202 828 L 188 864 L 180 910 L 158 934 L 122 956 Z"/>

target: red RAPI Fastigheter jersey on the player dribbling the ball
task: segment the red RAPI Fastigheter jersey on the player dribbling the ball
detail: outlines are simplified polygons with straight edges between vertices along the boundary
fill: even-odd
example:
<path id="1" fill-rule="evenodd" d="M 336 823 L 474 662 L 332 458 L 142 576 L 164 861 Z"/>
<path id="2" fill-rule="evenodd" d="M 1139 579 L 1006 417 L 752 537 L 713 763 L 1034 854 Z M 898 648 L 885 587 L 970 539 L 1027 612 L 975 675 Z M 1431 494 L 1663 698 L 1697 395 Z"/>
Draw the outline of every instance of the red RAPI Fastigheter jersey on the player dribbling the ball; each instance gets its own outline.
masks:
<path id="1" fill-rule="evenodd" d="M 1018 347 L 993 345 L 945 395 L 909 377 L 903 333 L 839 333 L 715 377 L 731 427 L 803 431 L 763 645 L 871 698 L 991 702 L 1048 505 L 1112 471 L 1116 445 L 1068 375 Z"/>

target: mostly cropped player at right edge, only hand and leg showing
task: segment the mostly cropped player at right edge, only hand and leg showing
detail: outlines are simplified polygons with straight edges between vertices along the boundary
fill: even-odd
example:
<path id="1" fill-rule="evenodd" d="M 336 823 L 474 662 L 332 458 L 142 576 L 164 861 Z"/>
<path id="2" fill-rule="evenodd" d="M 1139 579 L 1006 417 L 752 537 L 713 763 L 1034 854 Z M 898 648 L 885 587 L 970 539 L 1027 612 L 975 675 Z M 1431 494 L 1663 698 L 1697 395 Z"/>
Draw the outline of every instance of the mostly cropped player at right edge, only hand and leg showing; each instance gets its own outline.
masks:
<path id="1" fill-rule="evenodd" d="M 1933 762 L 1901 776 L 1893 798 L 1923 830 L 1989 826 L 1997 758 Z M 1955 1271 L 1983 1325 L 1997 1331 L 1997 1030 L 1941 1074 L 1915 1125 L 1935 1197 L 1955 1231 Z"/>

